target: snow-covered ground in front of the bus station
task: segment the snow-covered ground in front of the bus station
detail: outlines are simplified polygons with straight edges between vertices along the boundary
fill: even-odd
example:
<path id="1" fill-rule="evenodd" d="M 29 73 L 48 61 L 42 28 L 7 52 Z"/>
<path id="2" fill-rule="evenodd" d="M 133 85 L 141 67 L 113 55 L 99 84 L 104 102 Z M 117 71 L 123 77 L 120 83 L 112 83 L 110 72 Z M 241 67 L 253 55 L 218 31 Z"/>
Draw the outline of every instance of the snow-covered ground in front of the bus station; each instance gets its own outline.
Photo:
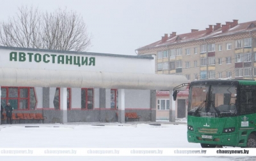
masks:
<path id="1" fill-rule="evenodd" d="M 188 143 L 187 125 L 178 120 L 148 123 L 68 123 L 0 125 L 0 148 L 201 148 Z M 26 127 L 27 126 L 27 127 Z M 29 126 L 29 127 L 28 127 Z M 33 126 L 33 127 L 31 127 Z M 256 160 L 255 157 L 0 157 L 0 160 Z"/>

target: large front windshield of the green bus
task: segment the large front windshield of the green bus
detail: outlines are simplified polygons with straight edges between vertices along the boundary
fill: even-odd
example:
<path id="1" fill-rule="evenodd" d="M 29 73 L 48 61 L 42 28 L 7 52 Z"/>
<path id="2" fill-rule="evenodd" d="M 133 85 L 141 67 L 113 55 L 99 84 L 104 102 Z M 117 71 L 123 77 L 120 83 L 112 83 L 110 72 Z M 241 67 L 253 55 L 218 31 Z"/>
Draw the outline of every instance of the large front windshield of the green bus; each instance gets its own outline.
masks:
<path id="1" fill-rule="evenodd" d="M 228 85 L 191 85 L 188 115 L 199 117 L 234 116 L 237 90 Z"/>

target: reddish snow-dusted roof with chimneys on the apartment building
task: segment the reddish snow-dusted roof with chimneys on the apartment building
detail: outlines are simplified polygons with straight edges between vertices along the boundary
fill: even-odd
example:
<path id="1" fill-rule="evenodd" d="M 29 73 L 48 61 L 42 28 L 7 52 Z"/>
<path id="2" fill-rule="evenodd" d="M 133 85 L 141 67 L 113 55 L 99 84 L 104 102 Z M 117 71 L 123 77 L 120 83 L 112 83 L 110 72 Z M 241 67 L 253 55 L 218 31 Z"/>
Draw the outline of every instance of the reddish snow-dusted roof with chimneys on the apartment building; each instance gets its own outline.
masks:
<path id="1" fill-rule="evenodd" d="M 170 36 L 168 36 L 168 34 L 164 34 L 161 40 L 136 50 L 146 50 L 159 46 L 172 46 L 176 45 L 177 43 L 186 43 L 189 41 L 197 40 L 199 41 L 201 39 L 217 38 L 221 36 L 252 31 L 256 31 L 256 20 L 251 22 L 244 22 L 241 24 L 238 24 L 238 20 L 233 20 L 233 22 L 226 22 L 225 25 L 221 25 L 220 23 L 216 23 L 216 25 L 209 25 L 209 28 L 206 28 L 202 31 L 191 29 L 191 32 L 185 34 L 176 35 L 176 32 L 172 32 Z"/>

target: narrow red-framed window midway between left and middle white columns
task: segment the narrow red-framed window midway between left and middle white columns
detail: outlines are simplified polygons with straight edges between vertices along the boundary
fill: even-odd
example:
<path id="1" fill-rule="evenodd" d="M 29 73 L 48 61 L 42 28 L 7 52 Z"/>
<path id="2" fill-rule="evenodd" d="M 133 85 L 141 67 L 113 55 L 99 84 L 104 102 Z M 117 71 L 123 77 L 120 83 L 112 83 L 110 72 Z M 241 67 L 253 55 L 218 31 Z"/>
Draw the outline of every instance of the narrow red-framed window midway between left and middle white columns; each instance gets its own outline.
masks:
<path id="1" fill-rule="evenodd" d="M 93 88 L 81 88 L 81 108 L 93 109 Z"/>

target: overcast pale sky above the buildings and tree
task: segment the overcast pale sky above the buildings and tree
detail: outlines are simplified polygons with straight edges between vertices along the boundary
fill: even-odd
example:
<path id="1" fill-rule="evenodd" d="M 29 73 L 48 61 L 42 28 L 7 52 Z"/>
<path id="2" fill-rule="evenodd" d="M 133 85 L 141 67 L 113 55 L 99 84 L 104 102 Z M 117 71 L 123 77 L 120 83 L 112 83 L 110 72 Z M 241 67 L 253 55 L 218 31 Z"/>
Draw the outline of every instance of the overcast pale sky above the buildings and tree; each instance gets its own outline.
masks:
<path id="1" fill-rule="evenodd" d="M 136 55 L 134 50 L 164 34 L 204 30 L 233 19 L 239 23 L 256 20 L 255 0 L 0 0 L 0 21 L 31 4 L 41 11 L 76 11 L 93 35 L 88 52 L 122 55 Z"/>

